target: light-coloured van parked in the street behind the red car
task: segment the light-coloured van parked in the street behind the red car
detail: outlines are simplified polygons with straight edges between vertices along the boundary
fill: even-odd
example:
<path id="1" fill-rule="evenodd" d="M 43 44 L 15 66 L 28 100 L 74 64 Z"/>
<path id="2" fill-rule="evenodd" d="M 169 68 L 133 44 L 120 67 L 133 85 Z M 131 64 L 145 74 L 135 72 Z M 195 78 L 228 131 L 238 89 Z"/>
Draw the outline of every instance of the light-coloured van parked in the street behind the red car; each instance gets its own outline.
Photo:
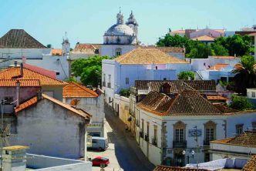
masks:
<path id="1" fill-rule="evenodd" d="M 91 143 L 87 142 L 87 149 L 106 150 L 109 147 L 107 139 L 104 137 L 92 136 Z"/>

